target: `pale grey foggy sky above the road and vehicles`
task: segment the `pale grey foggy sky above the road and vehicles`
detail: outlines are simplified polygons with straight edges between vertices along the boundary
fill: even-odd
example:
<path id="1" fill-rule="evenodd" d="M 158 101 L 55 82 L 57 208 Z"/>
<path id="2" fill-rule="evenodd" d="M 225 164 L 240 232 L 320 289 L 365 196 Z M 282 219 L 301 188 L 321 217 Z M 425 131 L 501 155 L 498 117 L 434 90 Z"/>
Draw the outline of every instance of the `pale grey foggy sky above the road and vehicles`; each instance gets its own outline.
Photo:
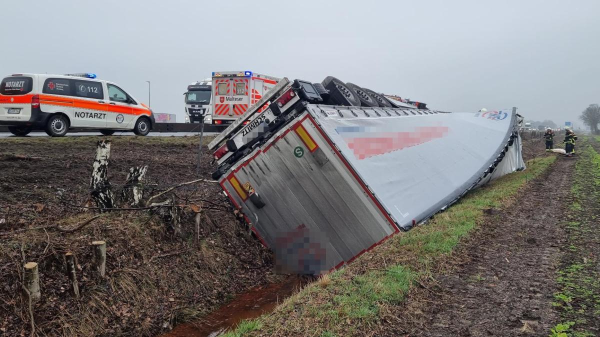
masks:
<path id="1" fill-rule="evenodd" d="M 467 112 L 574 121 L 600 103 L 600 1 L 10 1 L 0 76 L 97 73 L 155 112 L 212 71 L 251 70 Z"/>

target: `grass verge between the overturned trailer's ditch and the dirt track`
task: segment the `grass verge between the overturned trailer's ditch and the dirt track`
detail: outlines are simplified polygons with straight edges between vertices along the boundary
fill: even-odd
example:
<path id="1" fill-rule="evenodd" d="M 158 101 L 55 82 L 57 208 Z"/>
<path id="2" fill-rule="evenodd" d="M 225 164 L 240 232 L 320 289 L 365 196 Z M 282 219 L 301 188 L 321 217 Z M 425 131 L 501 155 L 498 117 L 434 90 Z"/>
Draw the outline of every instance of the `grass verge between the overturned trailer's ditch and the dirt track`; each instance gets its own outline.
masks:
<path id="1" fill-rule="evenodd" d="M 484 210 L 509 203 L 527 180 L 544 173 L 556 160 L 527 163 L 526 171 L 504 176 L 470 192 L 427 225 L 398 234 L 344 269 L 330 281 L 308 285 L 274 312 L 246 321 L 227 337 L 353 336 L 377 330 L 391 307 L 403 302 L 412 287 L 432 275 L 437 261 L 481 222 Z"/>

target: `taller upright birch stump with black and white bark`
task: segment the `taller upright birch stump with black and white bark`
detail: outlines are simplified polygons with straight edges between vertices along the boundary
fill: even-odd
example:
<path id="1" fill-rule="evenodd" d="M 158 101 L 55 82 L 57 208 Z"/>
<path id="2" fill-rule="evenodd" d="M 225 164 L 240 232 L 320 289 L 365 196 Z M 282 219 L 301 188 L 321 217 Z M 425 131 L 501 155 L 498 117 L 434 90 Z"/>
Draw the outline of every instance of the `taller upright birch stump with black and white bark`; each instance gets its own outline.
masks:
<path id="1" fill-rule="evenodd" d="M 100 140 L 96 148 L 96 158 L 92 165 L 92 198 L 97 207 L 115 208 L 115 197 L 107 179 L 110 158 L 110 140 Z"/>

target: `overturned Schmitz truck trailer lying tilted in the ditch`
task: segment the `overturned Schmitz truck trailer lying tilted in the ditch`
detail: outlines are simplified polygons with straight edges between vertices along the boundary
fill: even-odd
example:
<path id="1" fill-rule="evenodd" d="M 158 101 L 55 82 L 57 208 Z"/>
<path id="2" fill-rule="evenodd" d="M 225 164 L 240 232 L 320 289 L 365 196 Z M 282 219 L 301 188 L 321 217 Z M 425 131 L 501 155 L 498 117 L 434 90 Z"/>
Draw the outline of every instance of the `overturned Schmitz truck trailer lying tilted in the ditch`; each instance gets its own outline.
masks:
<path id="1" fill-rule="evenodd" d="M 281 272 L 340 267 L 470 189 L 524 169 L 515 108 L 365 104 L 331 79 L 283 79 L 209 144 L 214 179 Z"/>

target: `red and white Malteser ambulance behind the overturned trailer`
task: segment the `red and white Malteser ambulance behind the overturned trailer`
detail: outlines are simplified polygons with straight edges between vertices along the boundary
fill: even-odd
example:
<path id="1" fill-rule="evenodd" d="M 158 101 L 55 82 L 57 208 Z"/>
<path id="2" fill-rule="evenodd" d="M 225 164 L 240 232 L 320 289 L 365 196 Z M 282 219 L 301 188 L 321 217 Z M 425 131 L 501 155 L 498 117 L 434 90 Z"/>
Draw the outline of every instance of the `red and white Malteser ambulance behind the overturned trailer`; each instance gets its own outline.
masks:
<path id="1" fill-rule="evenodd" d="M 227 127 L 280 80 L 252 71 L 212 73 L 212 124 Z"/>

